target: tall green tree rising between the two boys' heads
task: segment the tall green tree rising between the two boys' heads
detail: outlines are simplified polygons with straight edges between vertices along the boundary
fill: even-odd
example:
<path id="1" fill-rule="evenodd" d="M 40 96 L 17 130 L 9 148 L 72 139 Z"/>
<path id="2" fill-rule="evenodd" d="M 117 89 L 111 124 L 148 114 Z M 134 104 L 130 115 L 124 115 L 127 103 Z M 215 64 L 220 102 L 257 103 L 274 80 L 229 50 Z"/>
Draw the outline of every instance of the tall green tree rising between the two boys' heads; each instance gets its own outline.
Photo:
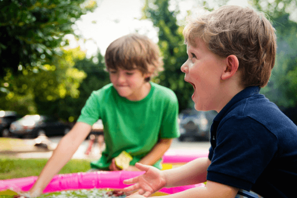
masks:
<path id="1" fill-rule="evenodd" d="M 193 93 L 193 86 L 184 81 L 181 65 L 187 60 L 187 49 L 184 45 L 182 27 L 177 25 L 176 12 L 169 11 L 168 0 L 146 1 L 144 19 L 149 18 L 159 29 L 159 48 L 164 61 L 164 71 L 153 79 L 175 92 L 179 101 L 179 109 L 189 107 L 189 99 Z"/>

